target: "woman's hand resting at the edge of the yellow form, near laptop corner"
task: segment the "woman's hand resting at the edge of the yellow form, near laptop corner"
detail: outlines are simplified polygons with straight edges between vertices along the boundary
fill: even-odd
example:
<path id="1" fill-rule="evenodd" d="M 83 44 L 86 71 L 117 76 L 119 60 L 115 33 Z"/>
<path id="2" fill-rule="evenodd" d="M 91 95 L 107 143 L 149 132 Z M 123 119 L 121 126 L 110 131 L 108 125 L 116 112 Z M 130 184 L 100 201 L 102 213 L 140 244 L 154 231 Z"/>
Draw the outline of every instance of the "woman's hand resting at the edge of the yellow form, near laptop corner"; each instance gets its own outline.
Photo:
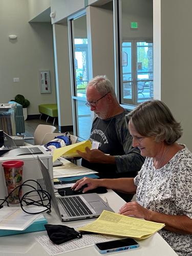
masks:
<path id="1" fill-rule="evenodd" d="M 119 209 L 119 214 L 130 216 L 130 217 L 143 218 L 145 220 L 150 219 L 150 210 L 145 209 L 137 202 L 129 202 L 124 204 Z"/>

